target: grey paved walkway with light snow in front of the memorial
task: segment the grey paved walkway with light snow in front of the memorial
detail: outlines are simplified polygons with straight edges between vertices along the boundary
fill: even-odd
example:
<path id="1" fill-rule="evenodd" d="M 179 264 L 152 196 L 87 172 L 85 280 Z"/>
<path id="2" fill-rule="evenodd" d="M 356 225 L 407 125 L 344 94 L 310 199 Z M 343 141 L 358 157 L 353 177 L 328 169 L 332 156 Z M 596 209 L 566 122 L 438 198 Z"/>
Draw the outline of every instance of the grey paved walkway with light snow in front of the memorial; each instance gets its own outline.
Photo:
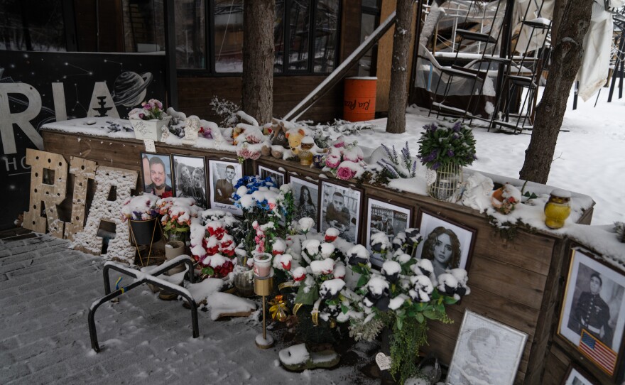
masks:
<path id="1" fill-rule="evenodd" d="M 0 384 L 374 384 L 357 367 L 291 373 L 278 345 L 260 350 L 258 315 L 212 321 L 163 301 L 147 286 L 95 315 L 102 351 L 91 349 L 87 314 L 104 295 L 99 256 L 43 234 L 0 239 Z M 119 276 L 111 273 L 112 287 Z M 124 276 L 122 284 L 132 278 Z M 362 366 L 371 359 L 356 350 Z M 370 353 L 369 353 L 370 354 Z M 357 365 L 358 366 L 358 365 Z"/>

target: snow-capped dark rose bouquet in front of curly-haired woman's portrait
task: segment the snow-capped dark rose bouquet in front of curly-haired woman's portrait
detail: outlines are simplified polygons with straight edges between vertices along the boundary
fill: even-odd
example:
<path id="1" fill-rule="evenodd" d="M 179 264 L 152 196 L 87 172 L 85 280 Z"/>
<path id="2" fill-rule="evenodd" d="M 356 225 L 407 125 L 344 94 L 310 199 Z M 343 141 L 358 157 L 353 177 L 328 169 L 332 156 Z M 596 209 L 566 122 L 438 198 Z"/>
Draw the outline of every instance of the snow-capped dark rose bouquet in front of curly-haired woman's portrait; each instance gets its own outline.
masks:
<path id="1" fill-rule="evenodd" d="M 352 300 L 338 318 L 349 320 L 349 335 L 356 340 L 373 340 L 384 327 L 390 330 L 390 372 L 399 376 L 401 384 L 417 372 L 414 358 L 427 343 L 427 320 L 452 322 L 445 305 L 470 293 L 464 269 L 435 276 L 430 260 L 411 256 L 423 237 L 415 229 L 406 230 L 392 243 L 381 239 L 386 234 L 377 233 L 381 235 L 371 246 L 385 256 L 380 271 L 371 269 L 364 252 L 348 255 L 350 269 L 359 274 L 354 290 L 357 300 Z"/>

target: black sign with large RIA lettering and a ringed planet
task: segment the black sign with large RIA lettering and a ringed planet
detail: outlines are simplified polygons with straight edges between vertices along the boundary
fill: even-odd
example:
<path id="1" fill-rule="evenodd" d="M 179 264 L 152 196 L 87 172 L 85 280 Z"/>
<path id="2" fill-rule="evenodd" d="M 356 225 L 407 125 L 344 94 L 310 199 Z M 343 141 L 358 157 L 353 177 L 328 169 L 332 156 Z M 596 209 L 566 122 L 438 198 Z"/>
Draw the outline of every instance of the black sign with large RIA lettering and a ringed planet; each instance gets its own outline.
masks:
<path id="1" fill-rule="evenodd" d="M 87 116 L 126 119 L 165 99 L 165 55 L 3 51 L 0 59 L 0 229 L 28 210 L 26 148 L 43 150 L 43 124 Z"/>

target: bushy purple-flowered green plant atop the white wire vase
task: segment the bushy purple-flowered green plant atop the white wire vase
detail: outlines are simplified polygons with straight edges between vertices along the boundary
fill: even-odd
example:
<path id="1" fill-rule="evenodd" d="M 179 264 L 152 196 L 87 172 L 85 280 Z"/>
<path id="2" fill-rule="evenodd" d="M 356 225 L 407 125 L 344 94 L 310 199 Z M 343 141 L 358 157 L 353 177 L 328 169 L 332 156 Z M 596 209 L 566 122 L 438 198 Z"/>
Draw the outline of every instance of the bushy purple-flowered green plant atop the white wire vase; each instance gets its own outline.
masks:
<path id="1" fill-rule="evenodd" d="M 423 128 L 418 158 L 424 166 L 432 170 L 452 164 L 469 166 L 477 159 L 473 133 L 461 121 L 451 127 L 432 123 Z"/>

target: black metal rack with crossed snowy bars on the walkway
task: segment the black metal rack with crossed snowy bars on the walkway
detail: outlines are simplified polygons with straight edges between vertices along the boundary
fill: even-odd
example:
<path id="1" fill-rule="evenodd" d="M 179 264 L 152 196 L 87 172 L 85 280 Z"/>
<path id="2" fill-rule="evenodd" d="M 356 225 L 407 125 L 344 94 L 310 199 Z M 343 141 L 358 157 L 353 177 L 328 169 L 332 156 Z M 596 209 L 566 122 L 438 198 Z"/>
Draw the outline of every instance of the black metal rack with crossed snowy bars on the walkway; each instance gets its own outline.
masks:
<path id="1" fill-rule="evenodd" d="M 195 303 L 195 299 L 193 298 L 191 293 L 189 293 L 189 291 L 183 287 L 175 286 L 174 288 L 167 281 L 164 281 L 161 278 L 156 278 L 156 276 L 158 276 L 159 274 L 164 273 L 165 271 L 168 271 L 169 269 L 172 269 L 175 266 L 180 266 L 180 265 L 186 265 L 188 267 L 187 275 L 189 277 L 189 281 L 190 283 L 195 283 L 195 275 L 193 274 L 193 261 L 191 257 L 188 255 L 177 256 L 176 258 L 170 261 L 167 261 L 165 262 L 165 264 L 162 264 L 161 266 L 159 266 L 158 269 L 151 271 L 150 274 L 142 273 L 141 271 L 137 271 L 135 269 L 130 269 L 129 267 L 126 267 L 121 264 L 117 264 L 115 262 L 109 261 L 105 263 L 102 273 L 104 274 L 104 293 L 106 295 L 104 295 L 104 297 L 92 303 L 91 308 L 89 308 L 88 322 L 89 322 L 89 338 L 91 338 L 91 348 L 94 349 L 96 353 L 100 351 L 100 347 L 97 342 L 97 333 L 95 330 L 95 320 L 94 320 L 95 311 L 97 310 L 97 308 L 99 308 L 99 306 L 102 305 L 103 303 L 107 303 L 109 300 L 112 300 L 113 298 L 119 297 L 119 295 L 126 293 L 126 291 L 130 291 L 136 288 L 137 286 L 141 286 L 143 283 L 151 283 L 154 286 L 158 286 L 159 288 L 162 288 L 162 289 L 166 288 L 167 290 L 173 291 L 174 293 L 177 293 L 178 295 L 188 300 L 189 305 L 191 307 L 191 325 L 193 327 L 193 338 L 199 337 L 200 327 L 198 326 L 198 323 L 197 323 L 197 304 Z M 111 292 L 111 283 L 109 281 L 109 271 L 111 269 L 119 271 L 120 273 L 129 275 L 135 278 L 136 281 L 134 281 L 128 286 L 124 286 L 123 288 L 118 288 L 116 289 L 116 291 Z"/>

